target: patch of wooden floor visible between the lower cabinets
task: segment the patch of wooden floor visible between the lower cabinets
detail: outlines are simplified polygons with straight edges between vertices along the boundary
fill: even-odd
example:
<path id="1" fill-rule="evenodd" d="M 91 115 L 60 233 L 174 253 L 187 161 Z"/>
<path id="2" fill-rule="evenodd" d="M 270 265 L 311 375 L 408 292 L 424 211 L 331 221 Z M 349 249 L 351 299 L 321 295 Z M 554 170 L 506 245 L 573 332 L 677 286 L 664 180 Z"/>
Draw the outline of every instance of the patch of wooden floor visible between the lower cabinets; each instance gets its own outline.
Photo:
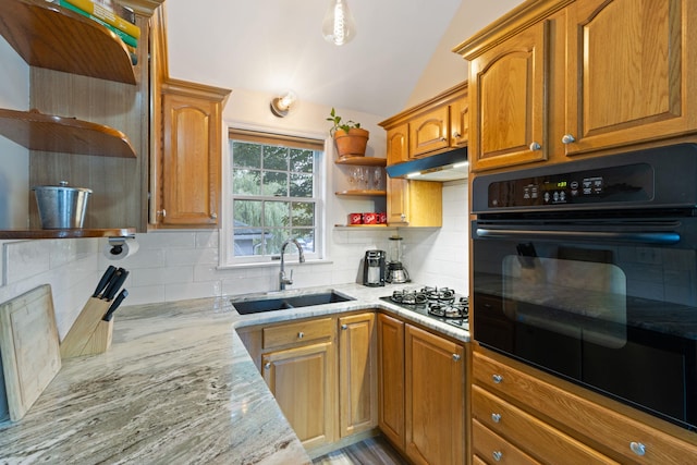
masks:
<path id="1" fill-rule="evenodd" d="M 406 463 L 381 437 L 368 438 L 313 461 L 313 464 L 321 465 L 404 465 Z"/>

